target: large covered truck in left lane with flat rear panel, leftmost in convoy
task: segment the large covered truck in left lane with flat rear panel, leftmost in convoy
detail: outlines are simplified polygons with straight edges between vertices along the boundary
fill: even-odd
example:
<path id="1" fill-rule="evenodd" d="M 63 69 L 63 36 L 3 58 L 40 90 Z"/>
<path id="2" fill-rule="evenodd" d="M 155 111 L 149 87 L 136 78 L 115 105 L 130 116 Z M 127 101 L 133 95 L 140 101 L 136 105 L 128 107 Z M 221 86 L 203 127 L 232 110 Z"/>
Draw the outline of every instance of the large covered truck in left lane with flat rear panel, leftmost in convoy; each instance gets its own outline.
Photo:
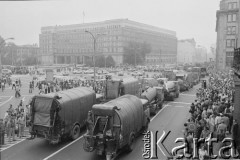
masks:
<path id="1" fill-rule="evenodd" d="M 36 95 L 31 102 L 31 135 L 49 140 L 55 144 L 61 138 L 80 135 L 88 111 L 96 103 L 96 94 L 90 88 L 78 87 Z"/>

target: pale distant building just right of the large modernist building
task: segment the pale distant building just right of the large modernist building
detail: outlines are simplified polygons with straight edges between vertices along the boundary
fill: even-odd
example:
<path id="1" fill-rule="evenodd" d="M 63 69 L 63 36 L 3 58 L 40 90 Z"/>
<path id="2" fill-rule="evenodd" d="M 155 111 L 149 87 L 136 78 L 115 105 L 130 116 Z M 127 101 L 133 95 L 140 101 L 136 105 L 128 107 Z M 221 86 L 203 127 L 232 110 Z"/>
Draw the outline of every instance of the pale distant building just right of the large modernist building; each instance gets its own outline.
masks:
<path id="1" fill-rule="evenodd" d="M 178 40 L 177 63 L 193 64 L 196 54 L 196 42 L 194 39 Z"/>

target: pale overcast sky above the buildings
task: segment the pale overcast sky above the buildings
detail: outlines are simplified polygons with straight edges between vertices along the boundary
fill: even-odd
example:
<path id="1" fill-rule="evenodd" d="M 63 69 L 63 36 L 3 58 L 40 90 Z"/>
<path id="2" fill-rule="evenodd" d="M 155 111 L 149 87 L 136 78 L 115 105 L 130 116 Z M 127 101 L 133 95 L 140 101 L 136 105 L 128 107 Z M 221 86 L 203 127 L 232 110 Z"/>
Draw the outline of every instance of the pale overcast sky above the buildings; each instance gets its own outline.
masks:
<path id="1" fill-rule="evenodd" d="M 0 36 L 17 45 L 39 44 L 42 26 L 128 18 L 195 38 L 207 48 L 216 43 L 220 0 L 56 0 L 0 2 Z"/>

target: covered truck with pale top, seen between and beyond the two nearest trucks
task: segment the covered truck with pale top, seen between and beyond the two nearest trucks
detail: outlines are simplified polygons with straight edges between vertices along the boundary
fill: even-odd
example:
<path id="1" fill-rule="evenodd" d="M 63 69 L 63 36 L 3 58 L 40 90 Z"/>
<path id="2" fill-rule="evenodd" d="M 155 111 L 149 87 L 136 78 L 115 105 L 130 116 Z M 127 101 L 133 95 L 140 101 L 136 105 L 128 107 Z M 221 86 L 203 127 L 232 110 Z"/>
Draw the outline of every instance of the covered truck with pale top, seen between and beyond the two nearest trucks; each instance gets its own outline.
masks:
<path id="1" fill-rule="evenodd" d="M 107 80 L 105 93 L 107 100 L 112 100 L 125 94 L 140 96 L 140 85 L 136 78 Z"/>

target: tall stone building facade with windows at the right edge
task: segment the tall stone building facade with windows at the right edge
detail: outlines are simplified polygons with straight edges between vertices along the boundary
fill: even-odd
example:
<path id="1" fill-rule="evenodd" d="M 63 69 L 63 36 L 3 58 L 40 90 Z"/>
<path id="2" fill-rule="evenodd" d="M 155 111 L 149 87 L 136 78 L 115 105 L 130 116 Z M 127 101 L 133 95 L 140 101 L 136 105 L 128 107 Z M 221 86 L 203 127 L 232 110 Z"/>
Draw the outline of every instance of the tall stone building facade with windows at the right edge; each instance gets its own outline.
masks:
<path id="1" fill-rule="evenodd" d="M 221 0 L 217 11 L 216 67 L 230 69 L 234 48 L 239 47 L 239 2 L 240 0 Z"/>

